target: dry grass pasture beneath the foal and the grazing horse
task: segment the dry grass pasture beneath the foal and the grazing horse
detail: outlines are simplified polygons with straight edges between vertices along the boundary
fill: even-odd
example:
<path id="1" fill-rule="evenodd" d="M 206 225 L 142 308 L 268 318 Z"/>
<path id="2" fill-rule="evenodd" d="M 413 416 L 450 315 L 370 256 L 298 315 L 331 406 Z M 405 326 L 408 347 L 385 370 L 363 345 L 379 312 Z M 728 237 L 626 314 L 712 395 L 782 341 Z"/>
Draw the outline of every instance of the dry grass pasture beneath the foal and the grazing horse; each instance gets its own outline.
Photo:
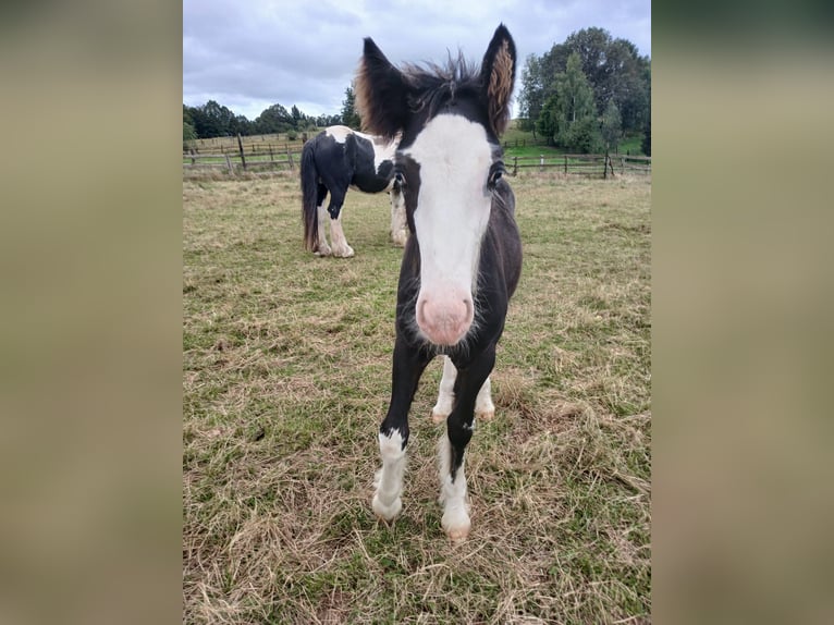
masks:
<path id="1" fill-rule="evenodd" d="M 356 256 L 304 250 L 296 172 L 183 182 L 184 623 L 648 623 L 651 181 L 508 179 L 525 260 L 440 527 L 414 401 L 403 513 L 370 506 L 402 249 L 348 192 Z"/>

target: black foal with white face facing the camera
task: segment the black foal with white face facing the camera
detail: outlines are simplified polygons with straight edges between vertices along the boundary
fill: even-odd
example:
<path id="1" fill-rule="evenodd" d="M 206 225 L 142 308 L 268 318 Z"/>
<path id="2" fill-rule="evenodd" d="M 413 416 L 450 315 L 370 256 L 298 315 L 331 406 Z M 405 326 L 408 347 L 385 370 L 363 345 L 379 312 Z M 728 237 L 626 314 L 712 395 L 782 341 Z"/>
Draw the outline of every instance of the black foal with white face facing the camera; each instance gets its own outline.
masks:
<path id="1" fill-rule="evenodd" d="M 480 69 L 462 58 L 450 58 L 444 68 L 397 69 L 366 38 L 356 81 L 357 108 L 368 130 L 387 137 L 402 133 L 394 168 L 410 229 L 372 507 L 387 520 L 402 510 L 408 409 L 426 366 L 443 355 L 432 416 L 446 422 L 438 467 L 441 525 L 453 541 L 469 534 L 464 450 L 475 417 L 494 414 L 489 376 L 522 272 L 515 197 L 502 177 L 499 142 L 510 117 L 515 66 L 515 44 L 502 24 Z"/>

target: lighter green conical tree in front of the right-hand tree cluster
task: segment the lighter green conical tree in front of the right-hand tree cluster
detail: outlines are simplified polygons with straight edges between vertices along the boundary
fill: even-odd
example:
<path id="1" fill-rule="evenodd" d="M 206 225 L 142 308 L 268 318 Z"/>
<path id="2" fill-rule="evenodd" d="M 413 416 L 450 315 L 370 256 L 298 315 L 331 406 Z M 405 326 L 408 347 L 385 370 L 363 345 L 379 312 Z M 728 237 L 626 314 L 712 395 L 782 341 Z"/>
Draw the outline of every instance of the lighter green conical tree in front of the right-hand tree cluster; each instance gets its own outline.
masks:
<path id="1" fill-rule="evenodd" d="M 582 72 L 579 54 L 571 54 L 565 72 L 556 76 L 555 93 L 542 107 L 539 121 L 539 132 L 556 146 L 579 152 L 601 149 L 593 90 Z"/>

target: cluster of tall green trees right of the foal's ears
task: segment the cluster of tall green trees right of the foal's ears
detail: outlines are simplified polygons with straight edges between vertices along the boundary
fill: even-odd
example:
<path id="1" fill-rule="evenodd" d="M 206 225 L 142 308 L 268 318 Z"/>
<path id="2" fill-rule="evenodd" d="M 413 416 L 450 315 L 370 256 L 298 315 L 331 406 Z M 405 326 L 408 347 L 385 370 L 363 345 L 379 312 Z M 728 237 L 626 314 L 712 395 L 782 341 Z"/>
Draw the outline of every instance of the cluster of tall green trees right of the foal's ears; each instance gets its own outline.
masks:
<path id="1" fill-rule="evenodd" d="M 530 54 L 522 71 L 519 127 L 576 152 L 615 149 L 642 135 L 651 156 L 651 60 L 627 39 L 585 28 Z"/>

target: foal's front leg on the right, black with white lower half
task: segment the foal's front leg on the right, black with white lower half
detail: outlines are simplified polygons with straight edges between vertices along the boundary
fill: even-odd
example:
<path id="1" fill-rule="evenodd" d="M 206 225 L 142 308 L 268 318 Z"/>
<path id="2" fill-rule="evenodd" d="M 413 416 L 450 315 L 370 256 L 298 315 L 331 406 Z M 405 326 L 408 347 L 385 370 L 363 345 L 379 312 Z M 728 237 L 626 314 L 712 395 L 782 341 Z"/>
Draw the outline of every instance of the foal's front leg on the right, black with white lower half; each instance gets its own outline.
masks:
<path id="1" fill-rule="evenodd" d="M 446 419 L 446 434 L 438 446 L 440 501 L 443 504 L 441 525 L 449 538 L 464 540 L 469 535 L 469 504 L 464 471 L 464 451 L 473 437 L 475 404 L 478 393 L 495 364 L 495 346 L 487 348 L 455 378 L 455 400 Z"/>

